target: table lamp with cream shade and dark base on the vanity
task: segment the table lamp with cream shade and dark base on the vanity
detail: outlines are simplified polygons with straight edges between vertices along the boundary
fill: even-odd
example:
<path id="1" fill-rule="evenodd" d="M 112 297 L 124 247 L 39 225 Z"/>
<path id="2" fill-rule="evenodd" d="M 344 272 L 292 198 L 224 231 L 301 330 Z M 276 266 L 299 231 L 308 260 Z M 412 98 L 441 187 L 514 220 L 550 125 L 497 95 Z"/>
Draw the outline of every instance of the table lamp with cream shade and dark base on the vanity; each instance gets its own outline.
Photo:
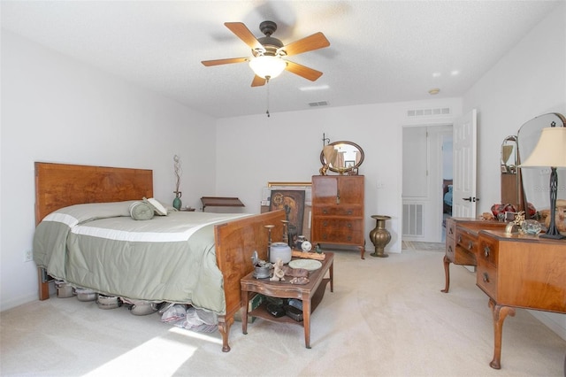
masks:
<path id="1" fill-rule="evenodd" d="M 556 195 L 558 190 L 558 173 L 556 168 L 566 167 L 566 127 L 547 127 L 542 129 L 539 142 L 532 150 L 531 156 L 523 164 L 524 167 L 550 166 L 550 224 L 547 233 L 540 238 L 552 238 L 561 240 L 566 236 L 561 235 L 556 227 Z"/>

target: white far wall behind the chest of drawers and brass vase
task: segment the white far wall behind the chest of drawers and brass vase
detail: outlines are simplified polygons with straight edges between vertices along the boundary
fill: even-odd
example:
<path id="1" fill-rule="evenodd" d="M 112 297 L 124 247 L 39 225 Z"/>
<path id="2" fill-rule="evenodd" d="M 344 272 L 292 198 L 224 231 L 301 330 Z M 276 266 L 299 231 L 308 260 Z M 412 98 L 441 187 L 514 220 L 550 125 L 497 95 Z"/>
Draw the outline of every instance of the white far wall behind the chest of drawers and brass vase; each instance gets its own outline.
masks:
<path id="1" fill-rule="evenodd" d="M 409 109 L 432 107 L 450 107 L 453 116 L 406 116 Z M 359 173 L 365 176 L 366 250 L 373 250 L 371 215 L 383 214 L 392 217 L 387 221 L 392 240 L 386 251 L 401 252 L 402 126 L 452 123 L 460 114 L 461 100 L 449 98 L 219 119 L 217 193 L 239 196 L 246 211 L 259 212 L 261 188 L 268 181 L 310 181 L 319 174 L 323 134 L 331 142 L 356 142 L 365 154 Z M 383 188 L 377 188 L 378 183 Z"/>

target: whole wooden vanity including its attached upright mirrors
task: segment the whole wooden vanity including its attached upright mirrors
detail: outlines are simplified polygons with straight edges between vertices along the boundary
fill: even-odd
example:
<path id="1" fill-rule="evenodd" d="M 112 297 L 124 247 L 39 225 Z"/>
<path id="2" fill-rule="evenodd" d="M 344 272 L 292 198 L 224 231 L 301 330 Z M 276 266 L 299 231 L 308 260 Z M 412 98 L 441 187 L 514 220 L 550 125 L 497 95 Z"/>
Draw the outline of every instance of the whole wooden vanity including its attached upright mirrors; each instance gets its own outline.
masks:
<path id="1" fill-rule="evenodd" d="M 547 127 L 566 127 L 566 117 L 557 112 L 542 114 L 501 144 L 501 204 L 510 204 L 517 212 L 524 212 L 527 220 L 534 217 L 540 222 L 542 213 L 549 212 L 550 190 L 549 186 L 544 189 L 542 182 L 552 183 L 550 169 L 521 165 Z M 509 215 L 515 217 L 505 213 L 503 218 L 509 219 Z M 489 365 L 494 369 L 501 368 L 503 321 L 514 316 L 516 308 L 566 313 L 566 240 L 522 234 L 507 226 L 507 222 L 496 220 L 448 218 L 446 222 L 446 283 L 442 291 L 447 293 L 450 286 L 451 263 L 477 267 L 476 285 L 488 296 L 493 315 L 493 359 Z"/>

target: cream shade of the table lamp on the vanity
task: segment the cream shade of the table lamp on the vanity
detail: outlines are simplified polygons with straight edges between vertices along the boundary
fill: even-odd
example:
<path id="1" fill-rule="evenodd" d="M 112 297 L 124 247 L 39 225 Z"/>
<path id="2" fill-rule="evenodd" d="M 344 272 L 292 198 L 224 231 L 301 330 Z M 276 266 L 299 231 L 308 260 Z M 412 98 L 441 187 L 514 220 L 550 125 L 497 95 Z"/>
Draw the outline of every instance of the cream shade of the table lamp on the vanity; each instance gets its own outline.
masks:
<path id="1" fill-rule="evenodd" d="M 566 127 L 542 129 L 539 142 L 521 167 L 566 167 Z"/>

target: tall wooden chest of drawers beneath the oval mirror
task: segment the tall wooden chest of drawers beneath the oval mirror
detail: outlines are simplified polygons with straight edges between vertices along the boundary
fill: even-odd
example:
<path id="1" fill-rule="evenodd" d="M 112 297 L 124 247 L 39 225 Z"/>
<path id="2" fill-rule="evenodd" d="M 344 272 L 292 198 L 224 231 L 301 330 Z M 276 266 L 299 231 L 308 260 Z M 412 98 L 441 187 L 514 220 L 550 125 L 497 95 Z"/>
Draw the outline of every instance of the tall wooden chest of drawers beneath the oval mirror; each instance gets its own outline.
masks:
<path id="1" fill-rule="evenodd" d="M 313 244 L 357 246 L 363 258 L 363 181 L 363 175 L 312 177 Z"/>

